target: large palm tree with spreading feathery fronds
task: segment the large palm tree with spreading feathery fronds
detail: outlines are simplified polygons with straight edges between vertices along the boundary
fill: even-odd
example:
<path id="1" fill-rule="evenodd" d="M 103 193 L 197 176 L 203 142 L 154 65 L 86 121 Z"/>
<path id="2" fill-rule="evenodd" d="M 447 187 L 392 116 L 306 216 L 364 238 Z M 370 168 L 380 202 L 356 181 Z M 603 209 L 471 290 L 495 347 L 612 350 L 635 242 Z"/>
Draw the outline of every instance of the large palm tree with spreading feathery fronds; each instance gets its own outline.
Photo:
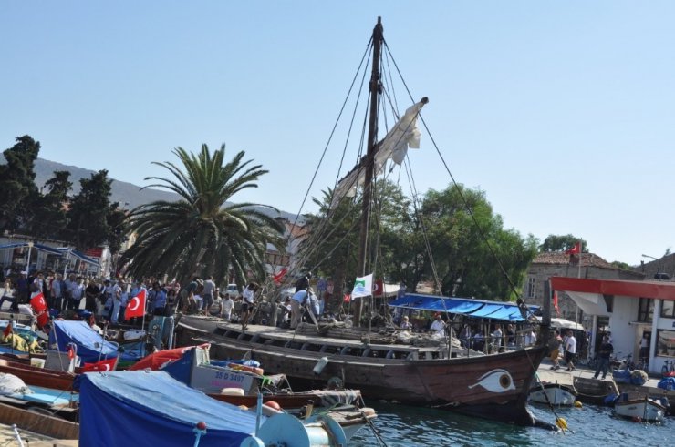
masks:
<path id="1" fill-rule="evenodd" d="M 255 182 L 268 171 L 250 166 L 252 160 L 243 162 L 244 151 L 224 164 L 224 144 L 213 154 L 206 145 L 197 156 L 182 147 L 173 153 L 184 169 L 168 161 L 153 162 L 173 177 L 146 178 L 161 183 L 145 188 L 166 188 L 180 199 L 131 211 L 131 230 L 137 237 L 121 259 L 128 272 L 137 278 L 167 274 L 179 280 L 213 275 L 223 282 L 232 269 L 239 284 L 246 281 L 248 270 L 264 278 L 266 244 L 283 247 L 282 224 L 261 212 L 260 205 L 227 201 L 244 188 L 257 188 Z"/>

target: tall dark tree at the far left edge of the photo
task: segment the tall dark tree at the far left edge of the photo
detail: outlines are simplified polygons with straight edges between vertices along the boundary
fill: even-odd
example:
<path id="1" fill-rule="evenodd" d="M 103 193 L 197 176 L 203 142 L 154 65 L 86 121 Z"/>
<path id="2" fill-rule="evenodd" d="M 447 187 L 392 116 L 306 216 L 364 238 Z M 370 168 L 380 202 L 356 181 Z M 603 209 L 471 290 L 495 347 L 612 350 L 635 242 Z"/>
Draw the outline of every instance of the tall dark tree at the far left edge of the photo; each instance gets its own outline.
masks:
<path id="1" fill-rule="evenodd" d="M 40 143 L 27 135 L 3 152 L 0 164 L 0 231 L 29 229 L 38 197 L 34 172 Z"/>

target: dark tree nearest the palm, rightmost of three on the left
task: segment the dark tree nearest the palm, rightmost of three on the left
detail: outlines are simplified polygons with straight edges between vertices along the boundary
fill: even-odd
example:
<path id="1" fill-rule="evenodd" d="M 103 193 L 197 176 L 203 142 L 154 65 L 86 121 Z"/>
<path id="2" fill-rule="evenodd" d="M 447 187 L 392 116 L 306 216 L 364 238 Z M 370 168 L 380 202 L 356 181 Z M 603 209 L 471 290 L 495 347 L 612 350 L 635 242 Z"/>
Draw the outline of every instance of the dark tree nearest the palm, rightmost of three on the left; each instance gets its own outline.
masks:
<path id="1" fill-rule="evenodd" d="M 112 180 L 101 169 L 90 178 L 79 180 L 79 193 L 68 210 L 67 239 L 78 249 L 96 247 L 108 241 L 108 222 Z"/>

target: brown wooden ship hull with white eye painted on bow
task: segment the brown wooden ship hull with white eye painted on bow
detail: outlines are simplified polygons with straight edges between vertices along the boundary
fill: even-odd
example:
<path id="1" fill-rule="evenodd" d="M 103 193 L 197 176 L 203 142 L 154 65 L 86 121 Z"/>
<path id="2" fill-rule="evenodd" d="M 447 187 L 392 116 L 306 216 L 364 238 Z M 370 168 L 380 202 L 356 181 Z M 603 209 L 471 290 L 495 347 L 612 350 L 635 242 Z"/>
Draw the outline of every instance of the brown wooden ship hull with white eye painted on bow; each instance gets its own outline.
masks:
<path id="1" fill-rule="evenodd" d="M 274 330 L 270 328 L 256 332 L 251 326 L 244 334 L 232 328 L 223 334 L 213 321 L 190 317 L 183 317 L 179 326 L 182 343 L 210 342 L 213 358 L 249 355 L 260 361 L 265 371 L 286 374 L 295 387 L 298 383 L 316 387 L 317 382 L 337 378 L 369 399 L 430 406 L 519 425 L 534 423 L 525 403 L 544 357 L 543 347 L 468 358 L 387 359 L 311 350 L 312 345 L 322 345 L 318 336 L 276 346 L 274 340 L 281 336 L 267 335 Z M 293 333 L 286 331 L 285 335 L 292 337 Z M 327 363 L 315 372 L 324 357 Z"/>

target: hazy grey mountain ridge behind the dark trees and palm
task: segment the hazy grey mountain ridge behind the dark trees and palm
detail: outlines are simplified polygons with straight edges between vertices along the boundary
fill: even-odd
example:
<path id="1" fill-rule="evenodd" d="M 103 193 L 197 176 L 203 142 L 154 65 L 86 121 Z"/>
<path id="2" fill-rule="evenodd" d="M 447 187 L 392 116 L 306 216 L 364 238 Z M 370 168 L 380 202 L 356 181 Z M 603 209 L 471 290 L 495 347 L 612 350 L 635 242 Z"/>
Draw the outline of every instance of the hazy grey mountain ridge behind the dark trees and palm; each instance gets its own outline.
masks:
<path id="1" fill-rule="evenodd" d="M 61 163 L 57 163 L 56 161 L 37 158 L 35 164 L 37 188 L 41 188 L 43 185 L 45 185 L 45 182 L 47 182 L 49 178 L 54 177 L 54 171 L 70 172 L 70 181 L 73 182 L 72 194 L 77 194 L 79 192 L 79 180 L 82 178 L 89 178 L 91 174 L 96 172 L 91 169 L 63 165 Z M 139 205 L 144 205 L 155 200 L 178 200 L 178 195 L 170 191 L 163 191 L 161 189 L 153 188 L 145 188 L 141 190 L 141 187 L 138 185 L 115 180 L 114 178 L 112 179 L 112 195 L 110 196 L 110 201 L 119 202 L 119 205 L 123 208 L 136 208 Z M 270 205 L 274 206 L 274 204 Z M 286 211 L 280 211 L 278 214 L 275 214 L 265 207 L 260 207 L 258 209 L 272 217 L 283 217 L 290 220 L 291 222 L 296 218 L 295 214 L 287 213 Z M 298 219 L 298 223 L 301 223 L 302 221 L 304 221 L 303 218 Z"/>

